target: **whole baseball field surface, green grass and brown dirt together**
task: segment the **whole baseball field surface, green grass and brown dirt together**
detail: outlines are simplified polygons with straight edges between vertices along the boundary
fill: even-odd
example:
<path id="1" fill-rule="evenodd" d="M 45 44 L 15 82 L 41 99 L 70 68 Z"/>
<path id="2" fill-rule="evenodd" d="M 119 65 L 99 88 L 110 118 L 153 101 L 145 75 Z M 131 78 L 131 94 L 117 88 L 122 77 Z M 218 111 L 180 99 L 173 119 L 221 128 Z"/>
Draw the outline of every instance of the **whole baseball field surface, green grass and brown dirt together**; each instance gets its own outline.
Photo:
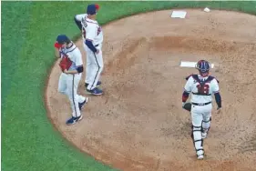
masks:
<path id="1" fill-rule="evenodd" d="M 108 43 L 102 75 L 107 93 L 92 97 L 84 120 L 68 127 L 68 101 L 56 92 L 59 71 L 53 45 L 56 35 L 66 34 L 81 47 L 73 18 L 91 3 L 2 2 L 2 170 L 255 170 L 256 2 L 97 2 L 97 20 Z M 206 6 L 215 10 L 202 12 Z M 186 9 L 190 20 L 168 24 L 173 8 Z M 159 12 L 108 25 L 149 11 Z M 161 22 L 152 26 L 153 17 Z M 143 36 L 130 38 L 127 33 L 136 28 Z M 109 46 L 120 52 L 110 52 Z M 151 52 L 148 58 L 138 57 L 145 52 Z M 220 66 L 213 74 L 220 78 L 224 110 L 213 117 L 212 136 L 206 141 L 211 156 L 202 163 L 193 158 L 189 114 L 179 109 L 184 75 L 195 71 L 181 70 L 176 62 L 188 57 L 206 57 Z M 163 82 L 175 91 L 171 98 Z M 160 108 L 169 116 L 161 115 Z"/>

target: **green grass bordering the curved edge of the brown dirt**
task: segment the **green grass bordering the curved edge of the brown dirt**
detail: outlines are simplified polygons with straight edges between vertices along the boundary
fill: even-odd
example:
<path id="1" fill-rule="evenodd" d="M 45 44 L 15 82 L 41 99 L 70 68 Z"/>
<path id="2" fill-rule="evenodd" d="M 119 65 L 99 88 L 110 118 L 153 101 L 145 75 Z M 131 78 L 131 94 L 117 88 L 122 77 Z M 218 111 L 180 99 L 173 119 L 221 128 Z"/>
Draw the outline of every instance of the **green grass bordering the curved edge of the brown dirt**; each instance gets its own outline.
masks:
<path id="1" fill-rule="evenodd" d="M 77 38 L 73 16 L 89 2 L 2 2 L 2 170 L 113 170 L 70 146 L 49 123 L 46 76 L 56 35 Z M 256 14 L 255 2 L 97 2 L 98 21 L 171 7 L 205 7 Z"/>

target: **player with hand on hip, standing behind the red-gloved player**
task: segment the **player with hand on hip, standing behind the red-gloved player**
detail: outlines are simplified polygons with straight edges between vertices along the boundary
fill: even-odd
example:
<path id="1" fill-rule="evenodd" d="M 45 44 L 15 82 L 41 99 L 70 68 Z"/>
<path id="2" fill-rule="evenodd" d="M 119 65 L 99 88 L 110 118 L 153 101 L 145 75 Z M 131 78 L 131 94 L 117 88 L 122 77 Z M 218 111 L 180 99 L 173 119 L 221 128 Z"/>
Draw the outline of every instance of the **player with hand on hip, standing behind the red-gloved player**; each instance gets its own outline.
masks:
<path id="1" fill-rule="evenodd" d="M 102 95 L 103 91 L 98 88 L 103 70 L 102 42 L 103 33 L 101 26 L 96 20 L 99 5 L 87 5 L 87 14 L 76 15 L 75 22 L 82 32 L 84 49 L 87 53 L 87 74 L 85 86 L 87 93 L 91 95 Z"/>

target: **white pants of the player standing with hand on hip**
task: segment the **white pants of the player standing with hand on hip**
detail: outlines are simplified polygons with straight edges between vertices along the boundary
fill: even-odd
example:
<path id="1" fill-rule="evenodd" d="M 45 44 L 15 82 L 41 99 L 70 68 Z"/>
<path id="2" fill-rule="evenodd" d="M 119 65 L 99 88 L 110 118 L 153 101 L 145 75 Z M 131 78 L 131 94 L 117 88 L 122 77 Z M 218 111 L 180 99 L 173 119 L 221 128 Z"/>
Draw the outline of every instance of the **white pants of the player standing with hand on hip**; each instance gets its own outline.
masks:
<path id="1" fill-rule="evenodd" d="M 103 70 L 103 57 L 101 46 L 98 45 L 96 48 L 99 50 L 98 54 L 92 52 L 87 45 L 84 44 L 84 48 L 87 52 L 87 75 L 86 83 L 88 84 L 87 89 L 92 90 L 96 88 L 97 81 L 99 80 L 100 74 Z"/>

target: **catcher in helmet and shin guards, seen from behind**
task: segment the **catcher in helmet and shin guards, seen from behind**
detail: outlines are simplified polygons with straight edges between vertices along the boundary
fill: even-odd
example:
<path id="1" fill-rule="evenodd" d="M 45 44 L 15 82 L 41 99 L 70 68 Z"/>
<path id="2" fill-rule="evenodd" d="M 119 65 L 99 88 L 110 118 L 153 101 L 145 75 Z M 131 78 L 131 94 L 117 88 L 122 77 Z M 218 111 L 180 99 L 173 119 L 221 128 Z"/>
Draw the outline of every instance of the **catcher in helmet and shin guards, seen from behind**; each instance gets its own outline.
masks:
<path id="1" fill-rule="evenodd" d="M 210 129 L 212 94 L 215 96 L 218 111 L 221 108 L 221 97 L 219 81 L 209 75 L 210 63 L 200 60 L 196 68 L 199 70 L 199 75 L 189 75 L 186 78 L 187 83 L 182 94 L 182 107 L 191 113 L 191 137 L 198 159 L 203 159 L 203 139 L 206 138 Z M 186 103 L 190 93 L 190 103 Z"/>

